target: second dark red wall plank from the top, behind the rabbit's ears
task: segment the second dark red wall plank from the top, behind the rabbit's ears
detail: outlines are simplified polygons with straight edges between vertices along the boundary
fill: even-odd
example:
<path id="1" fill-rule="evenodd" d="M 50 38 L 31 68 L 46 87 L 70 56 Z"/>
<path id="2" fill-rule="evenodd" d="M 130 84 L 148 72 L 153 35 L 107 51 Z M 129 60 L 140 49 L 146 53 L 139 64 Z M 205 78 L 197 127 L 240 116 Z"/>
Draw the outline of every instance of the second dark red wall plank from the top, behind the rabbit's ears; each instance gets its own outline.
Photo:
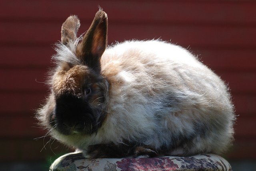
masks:
<path id="1" fill-rule="evenodd" d="M 2 22 L 0 32 L 1 45 L 53 45 L 60 40 L 62 22 L 56 23 L 23 23 Z M 90 23 L 82 23 L 81 33 Z M 19 31 L 17 31 L 17 28 Z M 178 26 L 154 24 L 111 24 L 108 29 L 109 42 L 129 39 L 157 39 L 178 43 L 184 47 L 233 47 L 255 49 L 256 31 L 254 27 L 221 27 L 221 26 Z"/>

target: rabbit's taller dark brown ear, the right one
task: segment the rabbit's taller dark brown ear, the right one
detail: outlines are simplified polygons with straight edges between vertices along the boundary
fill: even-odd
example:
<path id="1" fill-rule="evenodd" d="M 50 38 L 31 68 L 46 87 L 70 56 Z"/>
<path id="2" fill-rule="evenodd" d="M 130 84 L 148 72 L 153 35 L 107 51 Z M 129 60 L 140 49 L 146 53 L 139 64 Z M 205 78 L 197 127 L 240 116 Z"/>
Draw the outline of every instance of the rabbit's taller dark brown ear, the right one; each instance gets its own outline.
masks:
<path id="1" fill-rule="evenodd" d="M 76 48 L 76 53 L 82 62 L 95 71 L 100 71 L 100 58 L 107 45 L 108 17 L 101 9 Z"/>

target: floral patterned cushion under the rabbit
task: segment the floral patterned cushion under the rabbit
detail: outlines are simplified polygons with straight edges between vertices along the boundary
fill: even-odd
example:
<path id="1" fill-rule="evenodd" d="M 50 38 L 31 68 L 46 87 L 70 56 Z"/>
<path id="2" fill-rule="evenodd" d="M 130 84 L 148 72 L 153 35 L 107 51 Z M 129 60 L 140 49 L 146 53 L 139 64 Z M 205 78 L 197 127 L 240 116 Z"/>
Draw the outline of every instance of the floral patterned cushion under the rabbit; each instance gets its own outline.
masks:
<path id="1" fill-rule="evenodd" d="M 224 158 L 214 154 L 190 157 L 85 159 L 82 153 L 62 155 L 50 171 L 231 171 Z"/>

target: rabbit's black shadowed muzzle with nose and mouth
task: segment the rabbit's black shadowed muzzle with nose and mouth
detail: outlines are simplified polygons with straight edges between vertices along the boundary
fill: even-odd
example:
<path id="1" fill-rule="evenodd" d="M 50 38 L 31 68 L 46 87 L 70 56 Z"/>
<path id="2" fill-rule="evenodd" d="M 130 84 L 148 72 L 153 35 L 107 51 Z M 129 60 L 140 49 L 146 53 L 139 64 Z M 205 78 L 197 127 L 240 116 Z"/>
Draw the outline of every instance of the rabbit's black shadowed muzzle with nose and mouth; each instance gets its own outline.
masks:
<path id="1" fill-rule="evenodd" d="M 96 118 L 81 98 L 62 96 L 56 99 L 51 125 L 64 135 L 92 134 L 96 128 Z"/>

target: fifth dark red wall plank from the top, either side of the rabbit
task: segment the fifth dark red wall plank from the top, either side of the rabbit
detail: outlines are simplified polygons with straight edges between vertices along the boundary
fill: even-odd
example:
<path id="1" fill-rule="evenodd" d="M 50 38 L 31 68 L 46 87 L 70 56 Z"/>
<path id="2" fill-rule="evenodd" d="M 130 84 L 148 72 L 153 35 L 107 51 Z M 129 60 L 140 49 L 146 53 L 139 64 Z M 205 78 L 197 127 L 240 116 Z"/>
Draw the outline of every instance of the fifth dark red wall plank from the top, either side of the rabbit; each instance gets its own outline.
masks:
<path id="1" fill-rule="evenodd" d="M 0 93 L 1 108 L 0 114 L 31 116 L 34 110 L 44 104 L 47 92 L 41 93 Z M 232 100 L 236 109 L 236 114 L 251 116 L 255 114 L 256 95 L 255 94 L 232 94 Z"/>

